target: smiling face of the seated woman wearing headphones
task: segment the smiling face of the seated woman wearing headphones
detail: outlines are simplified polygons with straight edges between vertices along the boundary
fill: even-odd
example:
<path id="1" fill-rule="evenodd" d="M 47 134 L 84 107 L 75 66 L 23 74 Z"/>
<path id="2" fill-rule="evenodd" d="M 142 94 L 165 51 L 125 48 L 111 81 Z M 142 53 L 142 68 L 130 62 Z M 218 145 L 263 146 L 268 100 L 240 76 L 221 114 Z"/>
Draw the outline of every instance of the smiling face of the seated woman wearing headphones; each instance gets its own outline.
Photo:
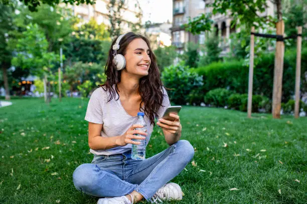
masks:
<path id="1" fill-rule="evenodd" d="M 150 67 L 149 47 L 141 39 L 133 39 L 126 48 L 126 71 L 132 74 L 145 76 L 148 75 Z"/>

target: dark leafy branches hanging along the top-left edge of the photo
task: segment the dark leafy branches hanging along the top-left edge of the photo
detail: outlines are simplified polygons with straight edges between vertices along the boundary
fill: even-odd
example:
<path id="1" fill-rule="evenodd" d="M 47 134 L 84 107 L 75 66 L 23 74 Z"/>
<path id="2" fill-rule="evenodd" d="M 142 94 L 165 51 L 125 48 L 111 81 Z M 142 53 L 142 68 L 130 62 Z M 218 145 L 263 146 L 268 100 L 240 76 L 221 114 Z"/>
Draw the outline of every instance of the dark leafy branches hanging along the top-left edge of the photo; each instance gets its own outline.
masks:
<path id="1" fill-rule="evenodd" d="M 49 4 L 51 6 L 54 6 L 56 4 L 60 3 L 60 0 L 20 0 L 21 2 L 25 3 L 25 5 L 28 6 L 29 10 L 31 11 L 37 11 L 37 7 L 42 4 Z M 80 3 L 86 3 L 86 4 L 93 4 L 95 3 L 95 0 L 61 0 L 63 3 L 69 3 L 69 4 L 77 4 Z M 0 0 L 3 4 L 10 4 L 10 0 Z"/>

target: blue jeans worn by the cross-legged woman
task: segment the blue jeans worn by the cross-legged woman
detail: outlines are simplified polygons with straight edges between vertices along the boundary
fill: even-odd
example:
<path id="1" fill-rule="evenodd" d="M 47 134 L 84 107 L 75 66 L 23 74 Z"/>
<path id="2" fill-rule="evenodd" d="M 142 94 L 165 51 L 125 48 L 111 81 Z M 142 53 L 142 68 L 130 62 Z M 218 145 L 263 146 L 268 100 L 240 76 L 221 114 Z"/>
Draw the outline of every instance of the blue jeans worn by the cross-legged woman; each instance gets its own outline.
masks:
<path id="1" fill-rule="evenodd" d="M 179 140 L 144 160 L 131 159 L 131 151 L 95 155 L 92 163 L 75 169 L 73 181 L 78 190 L 89 195 L 115 197 L 136 190 L 149 200 L 185 168 L 193 155 L 194 148 L 187 140 Z"/>

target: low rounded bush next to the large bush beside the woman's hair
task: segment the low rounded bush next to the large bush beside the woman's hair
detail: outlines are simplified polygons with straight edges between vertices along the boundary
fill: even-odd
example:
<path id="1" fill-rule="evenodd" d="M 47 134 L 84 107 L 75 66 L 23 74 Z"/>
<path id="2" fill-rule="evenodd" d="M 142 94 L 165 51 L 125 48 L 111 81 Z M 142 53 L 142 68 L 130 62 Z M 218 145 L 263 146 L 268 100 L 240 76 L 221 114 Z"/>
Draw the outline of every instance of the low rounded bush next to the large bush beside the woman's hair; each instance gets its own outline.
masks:
<path id="1" fill-rule="evenodd" d="M 210 90 L 204 97 L 205 103 L 216 107 L 224 107 L 227 105 L 228 97 L 233 93 L 225 88 L 216 88 Z"/>

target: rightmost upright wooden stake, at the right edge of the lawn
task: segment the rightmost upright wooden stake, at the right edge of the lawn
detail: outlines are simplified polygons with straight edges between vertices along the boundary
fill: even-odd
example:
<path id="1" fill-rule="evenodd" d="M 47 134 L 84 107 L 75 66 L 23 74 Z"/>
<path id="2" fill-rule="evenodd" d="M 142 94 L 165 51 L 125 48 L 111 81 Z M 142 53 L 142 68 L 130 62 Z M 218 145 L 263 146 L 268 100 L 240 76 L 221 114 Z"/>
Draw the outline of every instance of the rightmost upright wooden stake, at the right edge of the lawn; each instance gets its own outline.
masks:
<path id="1" fill-rule="evenodd" d="M 301 34 L 302 27 L 297 27 L 297 34 Z M 301 36 L 296 40 L 296 73 L 295 73 L 295 107 L 294 116 L 299 116 L 299 89 L 300 89 L 300 58 L 301 58 Z"/>

